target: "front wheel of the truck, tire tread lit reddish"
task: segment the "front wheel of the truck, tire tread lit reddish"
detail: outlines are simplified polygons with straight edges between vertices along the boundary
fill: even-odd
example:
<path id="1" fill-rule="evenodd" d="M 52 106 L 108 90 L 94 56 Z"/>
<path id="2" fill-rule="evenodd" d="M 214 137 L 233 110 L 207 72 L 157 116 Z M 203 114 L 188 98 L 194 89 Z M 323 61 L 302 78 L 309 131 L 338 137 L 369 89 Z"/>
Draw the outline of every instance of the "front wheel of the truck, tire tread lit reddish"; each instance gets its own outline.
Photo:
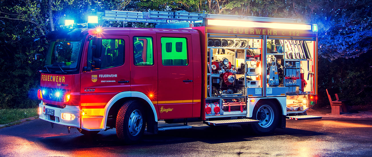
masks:
<path id="1" fill-rule="evenodd" d="M 145 112 L 139 101 L 124 102 L 116 117 L 116 135 L 126 143 L 138 141 L 145 131 Z"/>

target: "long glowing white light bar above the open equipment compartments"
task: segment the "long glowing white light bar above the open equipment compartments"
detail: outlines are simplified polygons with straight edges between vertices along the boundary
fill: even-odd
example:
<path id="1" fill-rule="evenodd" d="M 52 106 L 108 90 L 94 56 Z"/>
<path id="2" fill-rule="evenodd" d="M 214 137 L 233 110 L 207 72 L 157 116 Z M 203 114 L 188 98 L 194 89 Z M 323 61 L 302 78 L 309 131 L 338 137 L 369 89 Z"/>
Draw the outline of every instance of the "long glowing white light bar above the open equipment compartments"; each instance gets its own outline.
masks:
<path id="1" fill-rule="evenodd" d="M 214 26 L 230 26 L 230 27 L 259 27 L 259 28 L 272 28 L 272 29 L 312 30 L 310 24 L 295 24 L 295 23 L 264 23 L 264 22 L 252 22 L 252 21 L 208 19 L 207 24 L 214 25 Z"/>

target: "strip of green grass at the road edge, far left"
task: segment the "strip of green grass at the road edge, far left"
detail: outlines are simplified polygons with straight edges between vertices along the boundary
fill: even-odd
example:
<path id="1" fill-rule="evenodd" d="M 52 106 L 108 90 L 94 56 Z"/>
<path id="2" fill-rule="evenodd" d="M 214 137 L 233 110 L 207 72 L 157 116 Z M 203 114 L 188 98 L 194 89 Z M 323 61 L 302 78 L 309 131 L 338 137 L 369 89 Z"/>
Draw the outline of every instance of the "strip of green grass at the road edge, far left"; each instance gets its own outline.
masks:
<path id="1" fill-rule="evenodd" d="M 0 124 L 8 124 L 38 115 L 37 108 L 0 109 Z"/>

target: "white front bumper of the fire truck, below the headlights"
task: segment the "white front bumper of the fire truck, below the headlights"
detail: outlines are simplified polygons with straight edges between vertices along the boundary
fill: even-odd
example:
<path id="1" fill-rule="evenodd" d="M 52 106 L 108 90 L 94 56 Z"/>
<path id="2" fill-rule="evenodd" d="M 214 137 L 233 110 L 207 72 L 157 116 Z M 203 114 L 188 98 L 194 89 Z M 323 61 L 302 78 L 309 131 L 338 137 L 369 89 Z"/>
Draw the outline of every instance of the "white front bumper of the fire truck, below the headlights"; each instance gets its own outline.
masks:
<path id="1" fill-rule="evenodd" d="M 45 108 L 53 109 L 54 110 L 54 116 L 45 114 Z M 39 108 L 41 108 L 41 113 L 39 113 L 39 118 L 48 122 L 52 122 L 55 124 L 61 124 L 68 127 L 76 127 L 80 128 L 80 109 L 79 106 L 71 106 L 66 105 L 65 108 L 57 108 L 57 107 L 50 107 L 47 105 L 43 105 L 43 101 L 40 102 Z M 69 113 L 74 114 L 75 119 L 74 120 L 63 120 L 61 118 L 62 113 Z"/>

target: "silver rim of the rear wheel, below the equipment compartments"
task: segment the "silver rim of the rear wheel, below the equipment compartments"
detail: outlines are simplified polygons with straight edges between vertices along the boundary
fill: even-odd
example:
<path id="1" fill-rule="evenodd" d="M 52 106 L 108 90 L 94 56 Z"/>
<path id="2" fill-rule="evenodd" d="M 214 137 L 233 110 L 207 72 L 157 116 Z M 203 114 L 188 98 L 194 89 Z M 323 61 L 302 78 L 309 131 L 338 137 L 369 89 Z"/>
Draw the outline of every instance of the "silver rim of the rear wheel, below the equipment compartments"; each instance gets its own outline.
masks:
<path id="1" fill-rule="evenodd" d="M 269 105 L 262 105 L 257 111 L 257 120 L 260 127 L 267 128 L 273 124 L 274 121 L 274 110 Z"/>

